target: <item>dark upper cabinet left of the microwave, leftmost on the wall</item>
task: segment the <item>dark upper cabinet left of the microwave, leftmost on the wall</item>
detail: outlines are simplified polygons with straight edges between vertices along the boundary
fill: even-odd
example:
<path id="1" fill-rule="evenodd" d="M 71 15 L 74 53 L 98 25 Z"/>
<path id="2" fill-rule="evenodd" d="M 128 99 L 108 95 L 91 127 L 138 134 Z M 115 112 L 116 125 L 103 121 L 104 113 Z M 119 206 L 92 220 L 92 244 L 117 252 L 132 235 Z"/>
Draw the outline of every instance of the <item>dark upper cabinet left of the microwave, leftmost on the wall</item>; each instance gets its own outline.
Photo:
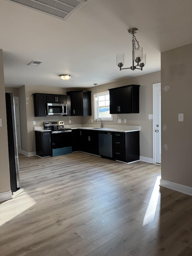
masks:
<path id="1" fill-rule="evenodd" d="M 46 116 L 46 94 L 33 94 L 35 116 Z"/>

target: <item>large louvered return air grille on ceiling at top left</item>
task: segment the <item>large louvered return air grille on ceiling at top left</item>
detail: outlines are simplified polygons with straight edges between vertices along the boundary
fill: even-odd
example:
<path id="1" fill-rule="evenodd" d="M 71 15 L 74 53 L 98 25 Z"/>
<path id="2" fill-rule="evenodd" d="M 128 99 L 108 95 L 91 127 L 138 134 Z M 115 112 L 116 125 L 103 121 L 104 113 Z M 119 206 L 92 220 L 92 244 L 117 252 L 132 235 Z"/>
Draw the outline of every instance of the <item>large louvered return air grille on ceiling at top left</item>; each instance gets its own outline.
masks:
<path id="1" fill-rule="evenodd" d="M 87 0 L 10 0 L 36 11 L 66 20 L 82 7 Z"/>

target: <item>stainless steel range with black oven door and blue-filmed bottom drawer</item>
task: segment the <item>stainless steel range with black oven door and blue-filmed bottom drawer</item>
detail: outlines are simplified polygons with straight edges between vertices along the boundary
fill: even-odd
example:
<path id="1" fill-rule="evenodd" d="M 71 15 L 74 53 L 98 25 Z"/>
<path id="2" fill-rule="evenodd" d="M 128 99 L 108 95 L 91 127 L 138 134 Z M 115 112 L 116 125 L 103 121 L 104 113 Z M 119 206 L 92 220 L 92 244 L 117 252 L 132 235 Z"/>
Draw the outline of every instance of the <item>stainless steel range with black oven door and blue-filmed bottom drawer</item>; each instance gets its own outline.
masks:
<path id="1" fill-rule="evenodd" d="M 44 129 L 51 130 L 52 156 L 72 153 L 71 129 L 64 128 L 64 121 L 44 122 Z"/>

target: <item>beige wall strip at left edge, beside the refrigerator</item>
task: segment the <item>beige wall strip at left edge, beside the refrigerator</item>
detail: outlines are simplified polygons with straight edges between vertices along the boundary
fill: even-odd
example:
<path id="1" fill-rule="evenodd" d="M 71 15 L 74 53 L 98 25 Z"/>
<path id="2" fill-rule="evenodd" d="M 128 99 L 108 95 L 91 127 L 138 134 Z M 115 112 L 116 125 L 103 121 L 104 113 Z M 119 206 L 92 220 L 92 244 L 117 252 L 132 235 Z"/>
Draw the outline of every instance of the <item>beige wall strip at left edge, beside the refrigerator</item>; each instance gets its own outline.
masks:
<path id="1" fill-rule="evenodd" d="M 4 86 L 4 70 L 3 70 L 3 51 L 0 49 L 0 118 L 2 119 L 2 127 L 0 127 L 0 193 L 10 191 L 9 176 L 9 154 L 7 142 L 7 117 L 5 106 L 5 86 Z"/>

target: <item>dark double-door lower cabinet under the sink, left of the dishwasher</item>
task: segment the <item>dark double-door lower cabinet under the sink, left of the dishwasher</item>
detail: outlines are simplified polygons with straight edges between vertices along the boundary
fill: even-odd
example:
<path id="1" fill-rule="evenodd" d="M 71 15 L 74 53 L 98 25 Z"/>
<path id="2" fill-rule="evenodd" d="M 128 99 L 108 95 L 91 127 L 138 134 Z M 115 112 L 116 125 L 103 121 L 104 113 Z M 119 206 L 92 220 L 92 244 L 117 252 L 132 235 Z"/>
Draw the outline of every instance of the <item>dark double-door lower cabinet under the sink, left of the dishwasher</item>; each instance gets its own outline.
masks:
<path id="1" fill-rule="evenodd" d="M 80 149 L 94 155 L 99 155 L 98 131 L 80 130 Z"/>

